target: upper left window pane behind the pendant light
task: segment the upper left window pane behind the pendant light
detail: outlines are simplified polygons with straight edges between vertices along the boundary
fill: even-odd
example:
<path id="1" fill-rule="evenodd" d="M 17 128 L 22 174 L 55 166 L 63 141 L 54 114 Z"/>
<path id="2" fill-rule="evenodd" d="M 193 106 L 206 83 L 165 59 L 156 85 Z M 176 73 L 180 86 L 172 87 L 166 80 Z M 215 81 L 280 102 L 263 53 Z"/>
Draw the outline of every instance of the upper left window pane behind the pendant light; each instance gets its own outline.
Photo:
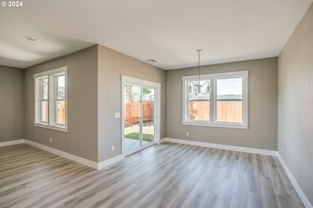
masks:
<path id="1" fill-rule="evenodd" d="M 200 80 L 199 90 L 199 81 L 193 80 L 188 81 L 188 98 L 189 100 L 209 100 L 210 99 L 210 80 Z"/>

